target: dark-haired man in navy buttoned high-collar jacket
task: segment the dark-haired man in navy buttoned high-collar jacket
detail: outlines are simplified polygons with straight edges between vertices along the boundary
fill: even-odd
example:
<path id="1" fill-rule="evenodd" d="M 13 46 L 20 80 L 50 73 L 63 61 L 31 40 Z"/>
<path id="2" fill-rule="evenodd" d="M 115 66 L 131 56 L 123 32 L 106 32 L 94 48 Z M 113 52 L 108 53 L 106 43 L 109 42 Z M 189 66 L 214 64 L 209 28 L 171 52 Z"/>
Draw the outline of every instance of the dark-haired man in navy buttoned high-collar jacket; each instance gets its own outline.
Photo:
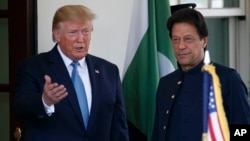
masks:
<path id="1" fill-rule="evenodd" d="M 173 13 L 167 28 L 178 69 L 160 79 L 153 141 L 199 141 L 203 133 L 202 66 L 208 29 L 202 14 L 190 8 Z M 212 65 L 219 77 L 228 124 L 250 124 L 248 92 L 240 75 L 232 68 Z"/>

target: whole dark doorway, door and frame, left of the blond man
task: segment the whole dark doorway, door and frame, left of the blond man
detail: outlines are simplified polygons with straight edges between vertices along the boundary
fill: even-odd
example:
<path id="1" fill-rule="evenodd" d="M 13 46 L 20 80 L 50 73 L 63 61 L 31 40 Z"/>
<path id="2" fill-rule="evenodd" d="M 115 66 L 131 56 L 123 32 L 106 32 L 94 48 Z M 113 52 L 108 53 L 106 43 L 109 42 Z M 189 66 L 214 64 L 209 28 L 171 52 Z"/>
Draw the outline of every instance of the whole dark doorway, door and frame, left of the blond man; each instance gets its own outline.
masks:
<path id="1" fill-rule="evenodd" d="M 22 125 L 12 108 L 16 66 L 21 59 L 37 53 L 37 4 L 36 0 L 5 0 L 0 5 L 0 30 L 4 31 L 0 32 L 1 38 L 4 37 L 0 41 L 0 52 L 3 54 L 0 59 L 0 100 L 8 103 L 0 109 L 7 112 L 0 117 L 0 121 L 5 123 L 3 141 L 17 141 L 14 133 L 17 128 L 22 131 Z"/>

